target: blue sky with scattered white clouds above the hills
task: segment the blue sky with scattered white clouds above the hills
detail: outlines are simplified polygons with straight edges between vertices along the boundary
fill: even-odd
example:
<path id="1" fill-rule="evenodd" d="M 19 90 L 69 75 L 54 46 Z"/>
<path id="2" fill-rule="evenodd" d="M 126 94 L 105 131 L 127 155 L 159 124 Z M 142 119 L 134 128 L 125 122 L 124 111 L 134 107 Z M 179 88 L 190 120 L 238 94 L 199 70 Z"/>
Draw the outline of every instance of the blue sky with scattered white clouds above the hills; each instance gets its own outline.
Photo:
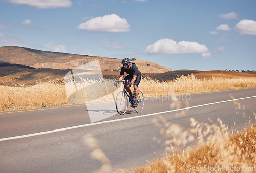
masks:
<path id="1" fill-rule="evenodd" d="M 256 70 L 255 0 L 0 0 L 0 46 Z"/>

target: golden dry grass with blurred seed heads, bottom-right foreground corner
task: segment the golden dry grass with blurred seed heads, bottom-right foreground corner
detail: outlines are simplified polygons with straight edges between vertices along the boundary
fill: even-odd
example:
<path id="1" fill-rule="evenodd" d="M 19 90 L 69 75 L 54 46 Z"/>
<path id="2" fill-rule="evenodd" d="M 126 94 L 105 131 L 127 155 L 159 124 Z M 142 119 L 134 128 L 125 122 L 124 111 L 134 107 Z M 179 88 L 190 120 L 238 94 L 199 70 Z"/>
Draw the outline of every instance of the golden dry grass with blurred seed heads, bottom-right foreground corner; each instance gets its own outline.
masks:
<path id="1" fill-rule="evenodd" d="M 247 121 L 244 131 L 234 132 L 219 118 L 219 124 L 212 124 L 211 120 L 199 123 L 190 118 L 190 128 L 184 131 L 160 116 L 154 123 L 162 137 L 153 140 L 165 147 L 165 156 L 132 171 L 119 169 L 117 172 L 255 172 L 256 125 L 252 121 L 255 117 L 255 122 L 256 113 L 248 120 L 244 107 L 235 99 L 234 104 L 237 114 L 242 114 Z"/>

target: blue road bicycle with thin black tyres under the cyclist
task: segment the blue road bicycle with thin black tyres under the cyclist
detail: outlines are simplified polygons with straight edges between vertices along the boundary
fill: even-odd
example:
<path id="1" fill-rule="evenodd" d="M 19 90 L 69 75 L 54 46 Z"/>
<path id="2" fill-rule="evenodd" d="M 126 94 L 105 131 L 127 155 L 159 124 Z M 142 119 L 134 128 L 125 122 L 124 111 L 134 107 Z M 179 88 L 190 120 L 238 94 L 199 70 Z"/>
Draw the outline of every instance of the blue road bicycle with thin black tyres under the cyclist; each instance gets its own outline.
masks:
<path id="1" fill-rule="evenodd" d="M 123 115 L 127 111 L 128 102 L 130 103 L 130 107 L 133 107 L 134 99 L 131 99 L 127 91 L 125 90 L 125 86 L 128 81 L 119 80 L 116 82 L 123 82 L 123 90 L 120 91 L 116 96 L 116 110 L 120 115 Z M 133 84 L 133 83 L 132 83 Z M 134 107 L 136 112 L 141 112 L 144 107 L 144 95 L 141 90 L 138 90 L 138 106 Z"/>

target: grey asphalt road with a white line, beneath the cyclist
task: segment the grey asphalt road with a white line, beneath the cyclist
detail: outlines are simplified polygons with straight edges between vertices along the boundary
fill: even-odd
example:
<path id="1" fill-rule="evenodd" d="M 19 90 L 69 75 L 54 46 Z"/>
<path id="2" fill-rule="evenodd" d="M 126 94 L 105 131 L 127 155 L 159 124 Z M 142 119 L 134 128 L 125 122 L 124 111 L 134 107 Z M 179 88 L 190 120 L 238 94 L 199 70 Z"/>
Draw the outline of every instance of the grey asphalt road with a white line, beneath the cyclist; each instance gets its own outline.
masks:
<path id="1" fill-rule="evenodd" d="M 97 139 L 113 170 L 130 170 L 164 153 L 165 148 L 153 140 L 161 138 L 153 123 L 159 116 L 184 129 L 189 128 L 189 118 L 217 122 L 218 117 L 229 127 L 236 122 L 234 128 L 243 129 L 246 120 L 236 114 L 230 95 L 245 105 L 246 116 L 254 120 L 256 88 L 178 95 L 176 104 L 172 96 L 147 98 L 141 113 L 129 108 L 123 116 L 115 114 L 95 123 L 83 104 L 0 112 L 1 172 L 97 171 L 102 163 L 91 157 L 91 149 L 83 141 L 87 134 Z M 100 104 L 95 105 L 101 109 Z M 181 114 L 184 110 L 186 116 Z"/>

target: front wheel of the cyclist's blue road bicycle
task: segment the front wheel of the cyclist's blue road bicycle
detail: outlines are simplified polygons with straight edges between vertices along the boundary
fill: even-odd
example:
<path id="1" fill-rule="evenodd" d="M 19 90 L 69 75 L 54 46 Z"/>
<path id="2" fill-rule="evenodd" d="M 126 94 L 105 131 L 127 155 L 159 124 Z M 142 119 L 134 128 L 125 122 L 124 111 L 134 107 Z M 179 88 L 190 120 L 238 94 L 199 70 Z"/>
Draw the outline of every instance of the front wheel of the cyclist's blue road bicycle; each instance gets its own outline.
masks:
<path id="1" fill-rule="evenodd" d="M 120 91 L 116 96 L 116 110 L 120 115 L 125 114 L 128 107 L 128 98 L 124 91 Z"/>

